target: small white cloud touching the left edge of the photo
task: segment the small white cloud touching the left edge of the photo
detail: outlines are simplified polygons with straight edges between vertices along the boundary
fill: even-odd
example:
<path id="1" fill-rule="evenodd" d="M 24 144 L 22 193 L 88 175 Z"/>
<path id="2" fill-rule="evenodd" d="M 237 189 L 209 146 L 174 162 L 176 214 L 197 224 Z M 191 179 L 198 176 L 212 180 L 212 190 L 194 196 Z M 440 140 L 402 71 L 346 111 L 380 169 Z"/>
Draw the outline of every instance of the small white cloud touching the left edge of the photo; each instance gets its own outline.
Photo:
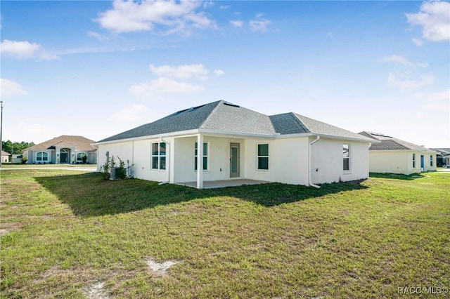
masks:
<path id="1" fill-rule="evenodd" d="M 58 59 L 57 55 L 42 50 L 41 45 L 30 43 L 29 41 L 10 41 L 5 39 L 0 43 L 0 52 L 16 59 Z"/>

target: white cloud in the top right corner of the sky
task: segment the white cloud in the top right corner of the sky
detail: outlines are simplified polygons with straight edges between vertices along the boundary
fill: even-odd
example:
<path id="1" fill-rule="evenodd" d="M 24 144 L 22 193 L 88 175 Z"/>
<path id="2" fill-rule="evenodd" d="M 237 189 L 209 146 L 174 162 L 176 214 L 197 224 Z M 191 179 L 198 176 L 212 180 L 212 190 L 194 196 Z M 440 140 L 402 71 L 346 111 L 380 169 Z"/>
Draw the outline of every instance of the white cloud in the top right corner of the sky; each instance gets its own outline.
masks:
<path id="1" fill-rule="evenodd" d="M 450 3 L 429 1 L 418 13 L 406 13 L 411 25 L 422 26 L 422 36 L 430 41 L 450 41 Z"/>

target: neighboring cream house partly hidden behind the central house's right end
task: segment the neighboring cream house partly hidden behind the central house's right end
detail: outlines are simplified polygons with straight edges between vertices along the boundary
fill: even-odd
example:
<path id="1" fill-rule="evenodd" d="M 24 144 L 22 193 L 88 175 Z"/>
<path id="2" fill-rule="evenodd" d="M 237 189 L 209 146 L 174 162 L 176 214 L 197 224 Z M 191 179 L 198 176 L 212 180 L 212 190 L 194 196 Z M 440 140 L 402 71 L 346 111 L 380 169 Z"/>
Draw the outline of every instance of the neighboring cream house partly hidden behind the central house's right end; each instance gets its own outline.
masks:
<path id="1" fill-rule="evenodd" d="M 434 150 L 381 133 L 364 131 L 359 134 L 379 141 L 369 148 L 369 170 L 373 173 L 409 175 L 436 171 L 438 152 Z"/>

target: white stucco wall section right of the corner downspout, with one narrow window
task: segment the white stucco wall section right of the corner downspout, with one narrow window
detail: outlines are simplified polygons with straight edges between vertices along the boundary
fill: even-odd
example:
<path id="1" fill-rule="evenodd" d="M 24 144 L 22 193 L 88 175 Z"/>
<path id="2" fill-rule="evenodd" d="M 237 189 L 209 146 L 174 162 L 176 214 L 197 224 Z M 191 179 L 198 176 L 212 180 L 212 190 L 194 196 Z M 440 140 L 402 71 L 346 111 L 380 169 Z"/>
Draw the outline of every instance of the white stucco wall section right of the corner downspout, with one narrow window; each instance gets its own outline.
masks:
<path id="1" fill-rule="evenodd" d="M 314 139 L 313 139 L 314 140 Z M 343 170 L 342 147 L 350 146 L 350 170 Z M 312 145 L 311 180 L 314 184 L 368 178 L 368 143 L 321 138 Z"/>

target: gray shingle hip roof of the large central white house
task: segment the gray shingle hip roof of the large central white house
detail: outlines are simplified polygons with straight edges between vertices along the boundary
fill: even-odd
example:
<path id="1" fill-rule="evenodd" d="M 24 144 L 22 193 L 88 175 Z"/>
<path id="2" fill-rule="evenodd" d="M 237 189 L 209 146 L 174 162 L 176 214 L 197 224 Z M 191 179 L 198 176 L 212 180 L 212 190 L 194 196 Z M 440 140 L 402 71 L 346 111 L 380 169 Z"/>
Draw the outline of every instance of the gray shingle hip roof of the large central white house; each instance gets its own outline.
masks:
<path id="1" fill-rule="evenodd" d="M 309 119 L 293 112 L 267 116 L 250 109 L 219 100 L 198 107 L 184 109 L 129 131 L 113 135 L 98 142 L 108 142 L 143 136 L 203 129 L 230 133 L 262 135 L 288 135 L 313 133 L 335 135 L 370 141 L 362 135 Z"/>

